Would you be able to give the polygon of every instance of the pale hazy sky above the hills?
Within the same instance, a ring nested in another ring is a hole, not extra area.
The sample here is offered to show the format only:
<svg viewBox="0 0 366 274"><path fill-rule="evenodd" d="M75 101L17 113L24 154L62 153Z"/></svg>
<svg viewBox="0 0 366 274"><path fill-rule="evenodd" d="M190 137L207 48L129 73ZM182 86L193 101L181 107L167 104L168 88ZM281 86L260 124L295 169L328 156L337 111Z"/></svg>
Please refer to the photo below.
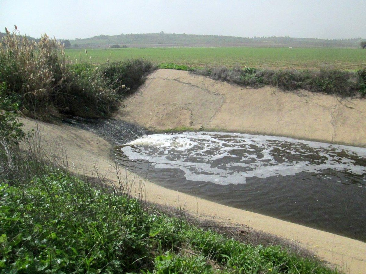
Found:
<svg viewBox="0 0 366 274"><path fill-rule="evenodd" d="M0 0L0 28L87 38L186 33L240 37L366 38L366 0Z"/></svg>

